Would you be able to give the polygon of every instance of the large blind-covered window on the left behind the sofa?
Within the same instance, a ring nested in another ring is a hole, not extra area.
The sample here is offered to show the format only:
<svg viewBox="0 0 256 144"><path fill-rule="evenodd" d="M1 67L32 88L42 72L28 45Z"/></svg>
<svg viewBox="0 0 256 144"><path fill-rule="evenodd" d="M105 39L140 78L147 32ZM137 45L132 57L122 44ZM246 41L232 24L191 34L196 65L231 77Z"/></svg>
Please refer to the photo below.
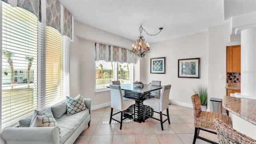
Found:
<svg viewBox="0 0 256 144"><path fill-rule="evenodd" d="M27 10L2 3L1 41L2 128L69 96L68 38Z"/></svg>

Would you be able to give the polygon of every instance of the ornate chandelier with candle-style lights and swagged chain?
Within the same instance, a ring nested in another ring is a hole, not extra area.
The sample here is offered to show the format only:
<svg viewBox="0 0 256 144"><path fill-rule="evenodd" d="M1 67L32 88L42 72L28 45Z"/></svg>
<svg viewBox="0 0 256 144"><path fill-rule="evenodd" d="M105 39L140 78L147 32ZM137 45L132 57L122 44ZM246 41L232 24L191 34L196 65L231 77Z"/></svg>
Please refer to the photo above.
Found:
<svg viewBox="0 0 256 144"><path fill-rule="evenodd" d="M159 34L162 29L163 28L159 28L160 31L157 34ZM142 26L140 25L140 27L139 27L140 36L138 37L139 39L136 40L137 46L134 46L134 44L132 44L132 52L134 52L136 57L138 56L139 58L143 58L144 56L147 57L146 53L150 53L149 44L148 43L146 44L145 39L141 35L142 30L144 30L144 28L142 28ZM146 32L146 30L144 30L144 32ZM157 34L149 34L148 32L146 32L146 34L149 36L157 35ZM145 44L146 44L146 46L145 46ZM143 49L143 51L142 51L142 49Z"/></svg>

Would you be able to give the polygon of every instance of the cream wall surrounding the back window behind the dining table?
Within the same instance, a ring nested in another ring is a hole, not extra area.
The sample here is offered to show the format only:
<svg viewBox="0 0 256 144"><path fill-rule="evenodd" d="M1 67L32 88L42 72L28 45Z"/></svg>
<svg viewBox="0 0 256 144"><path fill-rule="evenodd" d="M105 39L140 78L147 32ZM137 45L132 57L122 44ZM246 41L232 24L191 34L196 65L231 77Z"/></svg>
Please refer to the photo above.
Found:
<svg viewBox="0 0 256 144"><path fill-rule="evenodd" d="M131 48L133 41L79 22L74 24L74 35L70 43L70 97L82 93L84 98L92 98L92 109L109 106L110 92L95 92L95 42Z"/></svg>

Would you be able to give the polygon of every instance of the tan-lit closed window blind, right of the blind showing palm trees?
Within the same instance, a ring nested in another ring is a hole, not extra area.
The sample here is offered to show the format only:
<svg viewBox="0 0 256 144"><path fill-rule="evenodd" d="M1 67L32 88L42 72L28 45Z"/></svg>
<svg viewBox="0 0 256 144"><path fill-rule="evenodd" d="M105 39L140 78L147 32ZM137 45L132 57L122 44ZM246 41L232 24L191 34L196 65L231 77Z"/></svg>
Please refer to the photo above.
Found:
<svg viewBox="0 0 256 144"><path fill-rule="evenodd" d="M63 98L63 43L58 30L46 26L45 108Z"/></svg>

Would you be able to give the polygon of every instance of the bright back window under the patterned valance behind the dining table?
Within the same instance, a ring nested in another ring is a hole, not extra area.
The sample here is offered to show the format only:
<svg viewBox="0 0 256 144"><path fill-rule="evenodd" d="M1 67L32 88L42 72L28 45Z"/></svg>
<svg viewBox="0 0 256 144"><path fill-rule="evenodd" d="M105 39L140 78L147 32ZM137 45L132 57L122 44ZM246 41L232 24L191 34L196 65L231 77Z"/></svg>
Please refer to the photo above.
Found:
<svg viewBox="0 0 256 144"><path fill-rule="evenodd" d="M97 91L108 90L106 86L114 80L120 80L121 84L132 82L132 65L119 62L95 61L95 89Z"/></svg>

